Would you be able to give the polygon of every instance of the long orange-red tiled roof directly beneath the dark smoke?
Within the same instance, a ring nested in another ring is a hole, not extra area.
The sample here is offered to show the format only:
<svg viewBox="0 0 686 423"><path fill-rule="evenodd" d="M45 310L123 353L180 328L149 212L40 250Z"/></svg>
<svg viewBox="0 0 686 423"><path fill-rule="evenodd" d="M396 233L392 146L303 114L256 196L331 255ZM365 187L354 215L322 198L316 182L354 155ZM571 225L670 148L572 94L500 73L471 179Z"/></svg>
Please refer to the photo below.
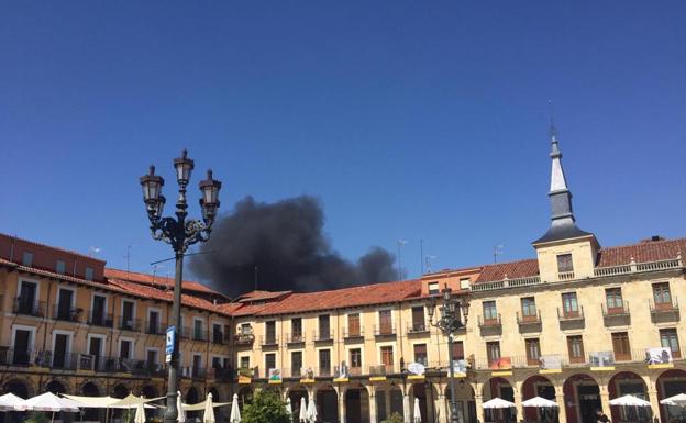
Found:
<svg viewBox="0 0 686 423"><path fill-rule="evenodd" d="M329 291L292 293L258 314L300 313L396 302L421 294L421 280L374 283Z"/></svg>

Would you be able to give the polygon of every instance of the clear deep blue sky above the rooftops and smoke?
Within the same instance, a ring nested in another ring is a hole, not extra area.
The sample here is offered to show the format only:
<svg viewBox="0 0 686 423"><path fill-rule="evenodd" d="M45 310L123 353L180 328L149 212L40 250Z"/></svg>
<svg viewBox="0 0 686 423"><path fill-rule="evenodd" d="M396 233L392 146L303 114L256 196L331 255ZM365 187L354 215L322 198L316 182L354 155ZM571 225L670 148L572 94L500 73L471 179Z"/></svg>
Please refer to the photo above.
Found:
<svg viewBox="0 0 686 423"><path fill-rule="evenodd" d="M170 197L188 147L224 211L318 196L350 258L530 257L552 99L579 226L685 236L684 22L684 1L3 2L0 231L150 271L170 249L137 178L155 163Z"/></svg>

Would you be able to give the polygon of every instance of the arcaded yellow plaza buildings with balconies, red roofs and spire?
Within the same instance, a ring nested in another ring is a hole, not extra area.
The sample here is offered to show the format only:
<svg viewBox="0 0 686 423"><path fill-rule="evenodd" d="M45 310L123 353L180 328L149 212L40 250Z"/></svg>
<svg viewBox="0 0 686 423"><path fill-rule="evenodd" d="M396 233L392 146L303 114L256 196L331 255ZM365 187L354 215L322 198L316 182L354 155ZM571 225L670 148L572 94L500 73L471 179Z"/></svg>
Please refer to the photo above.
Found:
<svg viewBox="0 0 686 423"><path fill-rule="evenodd" d="M534 258L233 300L184 282L185 400L211 391L219 401L237 393L243 404L274 390L296 414L307 397L322 422L342 423L394 412L409 422L417 401L422 422L446 422L453 366L462 422L595 423L597 409L612 421L648 418L609 405L627 393L650 401L663 422L681 420L660 400L686 392L686 238L601 247L577 226L555 136L551 146L551 223L532 243ZM172 280L2 235L0 282L3 391L164 396ZM444 287L469 303L450 350L430 322ZM558 412L522 405L536 396ZM496 397L516 407L485 411Z"/></svg>

